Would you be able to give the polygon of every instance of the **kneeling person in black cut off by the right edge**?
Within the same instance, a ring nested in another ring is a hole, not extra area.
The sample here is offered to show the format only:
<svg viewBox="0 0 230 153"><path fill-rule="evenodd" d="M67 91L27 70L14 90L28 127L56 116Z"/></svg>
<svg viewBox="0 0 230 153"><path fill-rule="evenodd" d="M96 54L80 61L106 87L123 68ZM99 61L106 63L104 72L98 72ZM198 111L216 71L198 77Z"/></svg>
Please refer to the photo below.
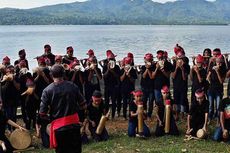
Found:
<svg viewBox="0 0 230 153"><path fill-rule="evenodd" d="M229 141L230 132L230 96L220 102L220 127L215 130L213 140Z"/></svg>

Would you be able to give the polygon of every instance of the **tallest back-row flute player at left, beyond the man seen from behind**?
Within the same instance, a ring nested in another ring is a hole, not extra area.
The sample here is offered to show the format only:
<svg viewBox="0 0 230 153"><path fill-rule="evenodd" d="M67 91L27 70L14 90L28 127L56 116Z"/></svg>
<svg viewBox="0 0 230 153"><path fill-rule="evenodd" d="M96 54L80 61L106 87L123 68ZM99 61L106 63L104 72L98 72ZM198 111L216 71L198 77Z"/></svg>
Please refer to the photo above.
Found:
<svg viewBox="0 0 230 153"><path fill-rule="evenodd" d="M40 57L43 57L45 59L48 66L52 66L55 64L55 55L51 52L51 46L49 44L46 44L44 46L44 54L42 54Z"/></svg>

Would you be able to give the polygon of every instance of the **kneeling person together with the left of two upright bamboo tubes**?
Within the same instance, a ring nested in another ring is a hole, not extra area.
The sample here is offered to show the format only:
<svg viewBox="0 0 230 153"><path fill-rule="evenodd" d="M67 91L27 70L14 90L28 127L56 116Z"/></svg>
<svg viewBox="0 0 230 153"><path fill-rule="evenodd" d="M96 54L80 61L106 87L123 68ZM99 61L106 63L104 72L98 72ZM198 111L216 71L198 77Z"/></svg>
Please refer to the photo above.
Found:
<svg viewBox="0 0 230 153"><path fill-rule="evenodd" d="M128 136L135 137L138 133L142 137L150 137L149 128L146 126L144 120L146 119L146 111L143 110L142 96L143 92L137 90L132 92L134 101L129 105L129 124Z"/></svg>

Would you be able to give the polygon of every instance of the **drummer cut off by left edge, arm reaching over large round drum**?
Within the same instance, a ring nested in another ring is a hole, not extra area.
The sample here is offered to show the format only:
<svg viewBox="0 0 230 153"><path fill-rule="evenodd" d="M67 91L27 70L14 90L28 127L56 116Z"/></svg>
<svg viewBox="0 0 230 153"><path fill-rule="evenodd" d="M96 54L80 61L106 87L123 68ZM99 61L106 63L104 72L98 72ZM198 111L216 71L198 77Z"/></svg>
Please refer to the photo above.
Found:
<svg viewBox="0 0 230 153"><path fill-rule="evenodd" d="M15 128L19 128L20 130L23 130L23 131L26 131L26 129L19 126L18 124L16 124L12 120L8 119L2 110L2 106L3 106L3 104L2 104L2 101L0 99L0 140L3 141L5 143L5 146L6 146L6 151L3 150L3 148L0 146L0 153L12 153L13 147L11 146L7 137L5 136L6 125L9 124Z"/></svg>

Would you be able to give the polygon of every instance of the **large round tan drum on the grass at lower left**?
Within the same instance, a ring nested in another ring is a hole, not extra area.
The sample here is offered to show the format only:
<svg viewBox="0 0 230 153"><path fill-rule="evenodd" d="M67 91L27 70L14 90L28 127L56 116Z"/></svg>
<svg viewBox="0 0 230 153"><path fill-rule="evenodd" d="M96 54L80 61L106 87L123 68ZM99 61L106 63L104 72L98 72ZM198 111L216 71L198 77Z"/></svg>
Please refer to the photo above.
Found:
<svg viewBox="0 0 230 153"><path fill-rule="evenodd" d="M20 129L14 130L11 133L9 140L11 145L17 150L26 149L32 143L29 132L21 131Z"/></svg>

